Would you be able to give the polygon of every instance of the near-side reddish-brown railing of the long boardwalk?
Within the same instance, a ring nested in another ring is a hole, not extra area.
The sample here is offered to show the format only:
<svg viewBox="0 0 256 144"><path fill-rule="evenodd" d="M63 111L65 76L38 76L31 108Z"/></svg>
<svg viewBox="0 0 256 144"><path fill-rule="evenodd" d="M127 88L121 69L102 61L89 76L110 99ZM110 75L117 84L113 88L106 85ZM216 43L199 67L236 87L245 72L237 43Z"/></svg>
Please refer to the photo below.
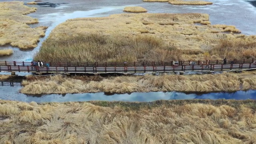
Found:
<svg viewBox="0 0 256 144"><path fill-rule="evenodd" d="M0 71L8 72L77 72L77 73L98 73L98 72L172 72L172 71L201 71L201 70L234 70L242 68L256 68L253 63L239 64L196 64L178 66L0 66Z"/></svg>

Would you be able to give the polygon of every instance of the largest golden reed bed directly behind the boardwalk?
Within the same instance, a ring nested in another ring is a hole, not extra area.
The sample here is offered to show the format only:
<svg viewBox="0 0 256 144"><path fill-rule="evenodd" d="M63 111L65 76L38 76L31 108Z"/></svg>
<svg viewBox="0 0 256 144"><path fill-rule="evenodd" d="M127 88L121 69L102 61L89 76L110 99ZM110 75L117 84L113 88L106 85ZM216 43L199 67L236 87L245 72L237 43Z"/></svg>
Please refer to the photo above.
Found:
<svg viewBox="0 0 256 144"><path fill-rule="evenodd" d="M34 59L52 62L198 60L204 59L205 52L215 60L246 58L240 53L228 57L222 52L213 52L225 41L244 44L239 47L242 52L248 48L256 51L251 45L256 41L255 36L233 32L240 31L234 26L211 25L208 14L197 13L76 18L58 25ZM249 55L250 58L255 56L254 53Z"/></svg>

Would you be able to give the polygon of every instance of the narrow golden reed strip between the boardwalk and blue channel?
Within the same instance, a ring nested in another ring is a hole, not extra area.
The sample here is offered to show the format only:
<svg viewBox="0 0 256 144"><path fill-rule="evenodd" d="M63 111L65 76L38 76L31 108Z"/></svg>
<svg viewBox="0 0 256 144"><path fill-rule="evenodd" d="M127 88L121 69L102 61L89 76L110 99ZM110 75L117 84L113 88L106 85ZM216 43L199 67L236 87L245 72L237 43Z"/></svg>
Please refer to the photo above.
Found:
<svg viewBox="0 0 256 144"><path fill-rule="evenodd" d="M223 73L203 75L118 76L88 81L62 75L23 80L23 94L65 94L87 92L216 92L256 89L256 76ZM32 76L33 77L33 76Z"/></svg>

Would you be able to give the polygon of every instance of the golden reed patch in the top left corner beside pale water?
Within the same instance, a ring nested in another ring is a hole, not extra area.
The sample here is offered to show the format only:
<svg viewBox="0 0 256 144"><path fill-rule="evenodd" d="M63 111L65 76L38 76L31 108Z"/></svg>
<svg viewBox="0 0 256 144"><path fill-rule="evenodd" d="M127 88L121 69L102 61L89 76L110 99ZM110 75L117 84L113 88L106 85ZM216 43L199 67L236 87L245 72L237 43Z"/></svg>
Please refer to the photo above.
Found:
<svg viewBox="0 0 256 144"><path fill-rule="evenodd" d="M0 46L10 44L21 49L35 48L47 27L30 28L28 24L38 19L25 16L36 8L24 6L23 2L0 2Z"/></svg>

